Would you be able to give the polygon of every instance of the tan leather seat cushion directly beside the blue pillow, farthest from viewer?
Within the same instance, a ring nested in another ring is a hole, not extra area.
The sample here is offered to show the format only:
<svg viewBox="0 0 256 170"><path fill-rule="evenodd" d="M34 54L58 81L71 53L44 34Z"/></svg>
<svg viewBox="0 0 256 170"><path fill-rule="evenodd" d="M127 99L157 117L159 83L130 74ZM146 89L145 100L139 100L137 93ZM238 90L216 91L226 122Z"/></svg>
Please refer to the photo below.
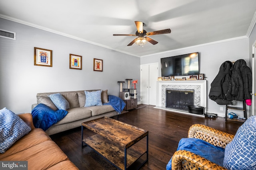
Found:
<svg viewBox="0 0 256 170"><path fill-rule="evenodd" d="M40 128L32 129L24 137L16 141L4 154L0 154L0 160L16 152L28 149L32 146L38 145L44 141L51 141L52 139Z"/></svg>

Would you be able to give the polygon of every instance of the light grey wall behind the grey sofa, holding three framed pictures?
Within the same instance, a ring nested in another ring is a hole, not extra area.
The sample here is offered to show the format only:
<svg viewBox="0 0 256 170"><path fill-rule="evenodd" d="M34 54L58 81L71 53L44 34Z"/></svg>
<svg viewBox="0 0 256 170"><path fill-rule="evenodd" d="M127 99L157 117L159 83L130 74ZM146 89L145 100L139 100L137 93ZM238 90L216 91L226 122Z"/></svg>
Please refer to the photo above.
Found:
<svg viewBox="0 0 256 170"><path fill-rule="evenodd" d="M39 92L108 89L118 96L117 81L140 82L138 57L2 18L0 23L16 32L16 41L0 38L0 109L30 113ZM34 47L52 50L52 67L34 66ZM82 70L69 68L69 54L82 56ZM94 58L103 60L103 72L93 71Z"/></svg>

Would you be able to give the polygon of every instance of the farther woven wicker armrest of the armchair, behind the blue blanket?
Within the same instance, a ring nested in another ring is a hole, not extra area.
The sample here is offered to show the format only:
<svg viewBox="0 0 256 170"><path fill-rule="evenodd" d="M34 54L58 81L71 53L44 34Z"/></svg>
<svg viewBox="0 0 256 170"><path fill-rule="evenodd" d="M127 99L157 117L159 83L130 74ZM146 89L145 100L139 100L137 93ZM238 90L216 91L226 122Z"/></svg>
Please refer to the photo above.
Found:
<svg viewBox="0 0 256 170"><path fill-rule="evenodd" d="M202 139L214 146L225 148L235 135L216 130L206 125L195 124L188 130L188 138Z"/></svg>

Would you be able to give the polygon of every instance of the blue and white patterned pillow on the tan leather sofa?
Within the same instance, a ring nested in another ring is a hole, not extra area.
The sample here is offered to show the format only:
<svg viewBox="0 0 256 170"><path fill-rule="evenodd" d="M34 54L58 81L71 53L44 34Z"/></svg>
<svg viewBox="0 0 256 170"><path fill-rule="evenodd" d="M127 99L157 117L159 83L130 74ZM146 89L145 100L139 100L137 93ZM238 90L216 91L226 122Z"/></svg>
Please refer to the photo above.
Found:
<svg viewBox="0 0 256 170"><path fill-rule="evenodd" d="M18 115L4 107L0 110L0 153L4 153L31 128Z"/></svg>

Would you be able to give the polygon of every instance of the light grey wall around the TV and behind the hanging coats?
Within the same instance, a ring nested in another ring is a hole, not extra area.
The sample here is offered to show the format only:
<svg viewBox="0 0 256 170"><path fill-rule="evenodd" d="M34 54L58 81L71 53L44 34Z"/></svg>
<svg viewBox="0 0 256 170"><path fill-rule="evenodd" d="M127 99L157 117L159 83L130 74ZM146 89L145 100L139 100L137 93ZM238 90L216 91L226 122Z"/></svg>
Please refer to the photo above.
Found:
<svg viewBox="0 0 256 170"><path fill-rule="evenodd" d="M249 38L236 39L234 41L226 41L222 43L211 43L208 45L201 45L187 49L170 51L168 53L142 57L140 59L140 64L158 62L159 68L161 68L161 58L194 52L199 52L200 55L200 74L204 74L207 80L207 96L210 92L210 84L218 74L220 65L224 61L244 59L249 66ZM159 69L158 75L159 77L161 76L161 69ZM242 102L238 103L238 106L242 107ZM220 107L223 107L223 111L220 111ZM220 113L221 115L225 113L225 106L216 104L216 102L210 100L209 97L207 98L206 109L207 112L210 113Z"/></svg>

